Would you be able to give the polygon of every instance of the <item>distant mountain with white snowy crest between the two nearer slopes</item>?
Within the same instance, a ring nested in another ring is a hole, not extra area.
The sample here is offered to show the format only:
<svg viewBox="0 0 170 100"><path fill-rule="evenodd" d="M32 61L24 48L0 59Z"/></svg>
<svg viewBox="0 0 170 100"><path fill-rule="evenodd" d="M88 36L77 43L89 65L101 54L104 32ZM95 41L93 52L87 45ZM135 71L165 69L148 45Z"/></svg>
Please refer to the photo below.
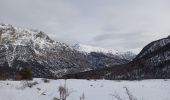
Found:
<svg viewBox="0 0 170 100"><path fill-rule="evenodd" d="M72 46L75 50L87 55L88 62L96 68L105 68L113 65L126 64L135 58L132 52L119 52L114 49L105 49L83 44Z"/></svg>

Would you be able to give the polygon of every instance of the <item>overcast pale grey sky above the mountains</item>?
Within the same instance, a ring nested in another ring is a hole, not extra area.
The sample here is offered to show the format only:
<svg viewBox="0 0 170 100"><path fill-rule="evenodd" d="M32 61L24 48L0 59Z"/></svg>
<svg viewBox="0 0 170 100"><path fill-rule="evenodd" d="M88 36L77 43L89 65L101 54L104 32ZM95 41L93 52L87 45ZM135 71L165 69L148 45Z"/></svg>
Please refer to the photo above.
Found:
<svg viewBox="0 0 170 100"><path fill-rule="evenodd" d="M170 34L170 0L0 0L0 23L70 45L139 53Z"/></svg>

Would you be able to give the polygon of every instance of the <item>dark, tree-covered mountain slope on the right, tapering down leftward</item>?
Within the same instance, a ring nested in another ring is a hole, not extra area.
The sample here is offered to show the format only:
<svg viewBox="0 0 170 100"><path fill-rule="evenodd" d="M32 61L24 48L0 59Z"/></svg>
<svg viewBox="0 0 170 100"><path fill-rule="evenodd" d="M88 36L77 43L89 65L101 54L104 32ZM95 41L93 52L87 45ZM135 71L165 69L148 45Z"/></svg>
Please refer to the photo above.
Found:
<svg viewBox="0 0 170 100"><path fill-rule="evenodd" d="M170 78L170 36L151 42L128 64L65 75L63 78L127 80Z"/></svg>

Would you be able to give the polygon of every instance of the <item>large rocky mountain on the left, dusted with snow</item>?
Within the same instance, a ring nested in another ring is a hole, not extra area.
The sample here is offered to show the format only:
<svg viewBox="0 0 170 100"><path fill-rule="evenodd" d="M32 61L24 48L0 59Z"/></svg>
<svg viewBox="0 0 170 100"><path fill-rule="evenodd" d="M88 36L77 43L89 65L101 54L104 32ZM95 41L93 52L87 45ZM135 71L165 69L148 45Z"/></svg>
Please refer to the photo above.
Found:
<svg viewBox="0 0 170 100"><path fill-rule="evenodd" d="M1 24L1 75L13 76L22 67L29 67L34 77L48 78L93 69L84 54L53 41L42 31Z"/></svg>

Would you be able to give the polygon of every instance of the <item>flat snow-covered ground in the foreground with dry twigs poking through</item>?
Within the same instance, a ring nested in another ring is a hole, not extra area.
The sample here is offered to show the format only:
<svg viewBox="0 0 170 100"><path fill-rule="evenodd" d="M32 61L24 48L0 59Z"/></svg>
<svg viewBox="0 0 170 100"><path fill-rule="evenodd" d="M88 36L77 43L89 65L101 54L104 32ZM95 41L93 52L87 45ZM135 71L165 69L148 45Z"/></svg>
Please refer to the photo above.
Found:
<svg viewBox="0 0 170 100"><path fill-rule="evenodd" d="M44 83L42 79L34 79L38 84L32 88L23 88L23 81L0 81L0 100L53 100L59 98L58 87L65 80L50 80ZM129 100L126 89L138 100L170 100L170 79L143 81L114 80L67 80L70 92L67 100L80 100L82 94L85 100L117 100L112 95L119 95Z"/></svg>

